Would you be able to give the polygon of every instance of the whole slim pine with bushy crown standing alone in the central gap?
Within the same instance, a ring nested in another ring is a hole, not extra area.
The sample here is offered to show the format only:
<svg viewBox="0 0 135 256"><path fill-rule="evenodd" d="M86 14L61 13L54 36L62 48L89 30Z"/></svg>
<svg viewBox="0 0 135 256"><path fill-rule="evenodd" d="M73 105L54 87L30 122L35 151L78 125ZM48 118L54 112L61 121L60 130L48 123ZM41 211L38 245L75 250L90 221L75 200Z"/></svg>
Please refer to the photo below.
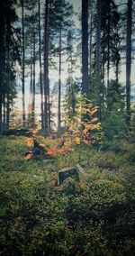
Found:
<svg viewBox="0 0 135 256"><path fill-rule="evenodd" d="M51 22L51 32L55 33L53 40L57 47L53 49L55 56L58 56L58 131L61 127L61 71L62 71L62 55L66 53L66 36L69 31L71 21L70 17L73 14L72 5L66 3L65 0L57 0L54 2ZM55 19L54 19L55 17Z"/></svg>

